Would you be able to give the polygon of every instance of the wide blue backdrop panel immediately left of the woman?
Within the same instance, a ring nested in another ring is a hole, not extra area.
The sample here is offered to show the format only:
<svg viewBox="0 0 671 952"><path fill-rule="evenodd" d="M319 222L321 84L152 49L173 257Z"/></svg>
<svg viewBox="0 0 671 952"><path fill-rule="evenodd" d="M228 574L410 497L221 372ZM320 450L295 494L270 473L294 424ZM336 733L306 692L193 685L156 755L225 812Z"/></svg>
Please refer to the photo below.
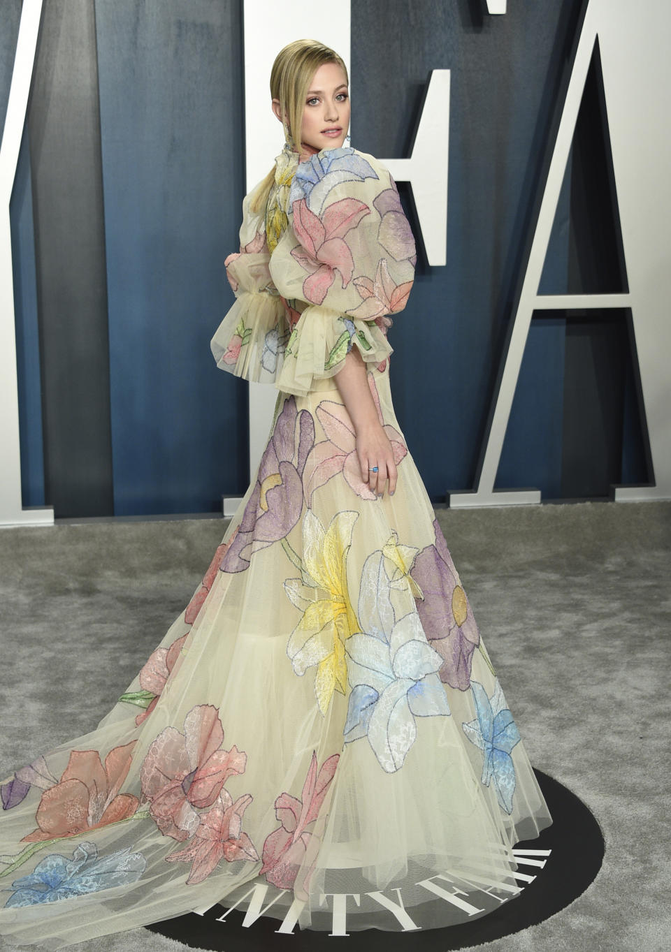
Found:
<svg viewBox="0 0 671 952"><path fill-rule="evenodd" d="M214 365L244 194L240 4L96 3L114 512L247 486L247 384Z"/></svg>

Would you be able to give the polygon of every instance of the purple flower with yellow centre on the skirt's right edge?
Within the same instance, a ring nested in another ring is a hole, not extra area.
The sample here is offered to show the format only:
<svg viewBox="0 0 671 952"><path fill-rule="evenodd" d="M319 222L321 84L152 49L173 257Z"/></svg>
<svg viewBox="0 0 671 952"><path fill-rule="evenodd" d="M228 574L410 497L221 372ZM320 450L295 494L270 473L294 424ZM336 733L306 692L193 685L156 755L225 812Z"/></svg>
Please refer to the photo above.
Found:
<svg viewBox="0 0 671 952"><path fill-rule="evenodd" d="M424 595L417 600L417 612L431 646L444 659L440 680L467 691L473 652L480 642L478 625L437 520L434 529L436 545L417 553L411 572Z"/></svg>

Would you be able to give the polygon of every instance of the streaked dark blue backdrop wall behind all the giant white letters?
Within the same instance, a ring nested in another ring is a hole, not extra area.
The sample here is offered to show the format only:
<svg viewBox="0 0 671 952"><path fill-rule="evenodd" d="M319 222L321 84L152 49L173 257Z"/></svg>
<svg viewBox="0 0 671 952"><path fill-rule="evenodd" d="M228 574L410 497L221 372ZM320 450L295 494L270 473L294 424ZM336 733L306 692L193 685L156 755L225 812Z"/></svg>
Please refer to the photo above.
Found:
<svg viewBox="0 0 671 952"><path fill-rule="evenodd" d="M519 0L503 17L466 0L352 7L356 148L409 154L429 71L452 71L447 266L420 251L390 335L398 417L434 500L474 482L583 5ZM19 14L19 0L0 0L0 121ZM245 191L242 70L240 0L47 4L11 204L24 505L215 511L246 488L247 385L209 348L233 302L223 261ZM541 293L626 287L600 82L595 55ZM419 237L411 189L399 190ZM613 238L599 254L595 226ZM585 375L592 402L577 415ZM555 499L602 489L620 467L623 482L644 479L634 380L620 325L579 333L575 315L538 312L496 486ZM576 451L600 415L601 470Z"/></svg>

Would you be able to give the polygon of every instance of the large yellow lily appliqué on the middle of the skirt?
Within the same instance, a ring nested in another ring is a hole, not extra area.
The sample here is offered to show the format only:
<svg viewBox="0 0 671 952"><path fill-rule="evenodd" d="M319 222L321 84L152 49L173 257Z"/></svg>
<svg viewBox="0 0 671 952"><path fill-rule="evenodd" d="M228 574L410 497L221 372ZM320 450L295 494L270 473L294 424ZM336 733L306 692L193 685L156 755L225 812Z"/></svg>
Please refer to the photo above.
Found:
<svg viewBox="0 0 671 952"><path fill-rule="evenodd" d="M354 511L338 512L324 529L308 509L303 521L302 579L284 583L289 599L303 612L287 654L296 674L316 665L315 695L322 714L334 691L347 691L345 641L359 630L347 592L347 554L357 518Z"/></svg>

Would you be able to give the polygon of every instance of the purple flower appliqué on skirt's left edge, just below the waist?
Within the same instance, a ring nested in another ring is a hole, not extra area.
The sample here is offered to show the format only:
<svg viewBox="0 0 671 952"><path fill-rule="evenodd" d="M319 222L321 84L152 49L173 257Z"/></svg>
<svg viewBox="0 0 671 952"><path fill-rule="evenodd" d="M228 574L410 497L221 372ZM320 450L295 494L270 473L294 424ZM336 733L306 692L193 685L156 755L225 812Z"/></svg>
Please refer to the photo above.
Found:
<svg viewBox="0 0 671 952"><path fill-rule="evenodd" d="M275 421L237 534L221 563L224 572L244 572L254 552L284 539L303 509L302 474L315 444L315 421L298 412L295 397L284 401Z"/></svg>

